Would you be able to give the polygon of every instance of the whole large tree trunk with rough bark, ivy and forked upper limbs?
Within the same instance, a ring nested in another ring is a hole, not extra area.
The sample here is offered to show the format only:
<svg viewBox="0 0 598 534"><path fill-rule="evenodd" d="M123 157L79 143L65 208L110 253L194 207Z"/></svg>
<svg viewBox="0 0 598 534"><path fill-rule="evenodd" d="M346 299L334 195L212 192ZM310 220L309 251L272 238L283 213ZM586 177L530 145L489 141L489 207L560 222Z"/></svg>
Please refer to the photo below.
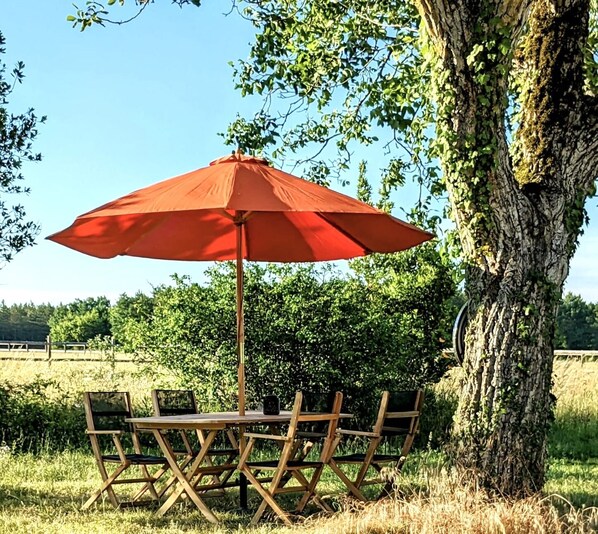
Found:
<svg viewBox="0 0 598 534"><path fill-rule="evenodd" d="M459 460L486 487L524 496L544 483L557 305L598 176L596 98L583 90L589 2L418 8L437 58L438 137L471 299Z"/></svg>

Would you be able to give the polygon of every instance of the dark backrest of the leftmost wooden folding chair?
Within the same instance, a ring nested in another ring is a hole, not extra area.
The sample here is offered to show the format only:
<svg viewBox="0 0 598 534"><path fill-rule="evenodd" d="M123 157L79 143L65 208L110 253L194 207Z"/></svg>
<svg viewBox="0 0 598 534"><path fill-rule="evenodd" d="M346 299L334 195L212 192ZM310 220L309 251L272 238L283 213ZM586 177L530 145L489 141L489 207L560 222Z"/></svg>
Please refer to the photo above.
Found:
<svg viewBox="0 0 598 534"><path fill-rule="evenodd" d="M126 430L131 425L131 398L124 391L87 391L83 394L88 430Z"/></svg>

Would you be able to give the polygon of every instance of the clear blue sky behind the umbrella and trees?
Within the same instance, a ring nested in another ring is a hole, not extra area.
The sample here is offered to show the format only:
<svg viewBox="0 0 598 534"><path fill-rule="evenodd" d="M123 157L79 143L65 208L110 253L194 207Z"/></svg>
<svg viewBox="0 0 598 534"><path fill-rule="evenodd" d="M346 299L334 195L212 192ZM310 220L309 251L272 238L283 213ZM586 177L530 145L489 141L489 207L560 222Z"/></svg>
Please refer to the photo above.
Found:
<svg viewBox="0 0 598 534"><path fill-rule="evenodd" d="M201 279L208 263L99 260L43 237L108 200L230 151L218 132L237 113L247 116L259 106L235 92L228 65L246 57L252 28L235 14L223 15L228 2L204 4L181 10L158 1L126 26L81 33L66 22L70 1L0 2L3 60L26 65L11 111L33 107L48 116L35 143L43 161L24 168L32 192L23 203L42 231L35 247L0 269L0 300L115 299L149 293L175 272ZM399 198L399 207L408 209L413 194ZM591 201L594 218L595 206ZM597 224L586 228L566 286L589 301L598 301Z"/></svg>

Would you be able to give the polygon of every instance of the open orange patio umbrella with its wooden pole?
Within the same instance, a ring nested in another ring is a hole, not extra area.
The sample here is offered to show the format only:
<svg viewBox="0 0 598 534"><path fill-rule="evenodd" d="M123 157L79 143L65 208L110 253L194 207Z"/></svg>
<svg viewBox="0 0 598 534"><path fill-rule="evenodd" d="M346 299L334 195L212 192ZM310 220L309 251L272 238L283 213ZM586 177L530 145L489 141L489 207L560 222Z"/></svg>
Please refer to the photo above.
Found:
<svg viewBox="0 0 598 534"><path fill-rule="evenodd" d="M48 239L98 258L236 260L239 413L245 413L243 260L396 252L433 236L372 206L235 153L80 215Z"/></svg>

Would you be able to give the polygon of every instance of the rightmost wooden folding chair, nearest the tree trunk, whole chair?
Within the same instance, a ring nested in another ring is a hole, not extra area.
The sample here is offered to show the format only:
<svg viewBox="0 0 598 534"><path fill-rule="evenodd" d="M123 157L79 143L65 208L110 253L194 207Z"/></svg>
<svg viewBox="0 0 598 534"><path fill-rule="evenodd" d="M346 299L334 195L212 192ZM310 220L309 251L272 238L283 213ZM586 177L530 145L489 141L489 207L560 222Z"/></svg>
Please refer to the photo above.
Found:
<svg viewBox="0 0 598 534"><path fill-rule="evenodd" d="M338 429L336 438L332 444L332 457L328 465L345 483L349 492L362 501L366 501L361 488L372 484L383 484L383 489L378 498L383 495L389 495L393 489L393 477L382 476L383 468L390 468L390 474L400 472L405 459L411 450L413 440L419 427L419 417L421 414L424 393L422 390L400 391L389 393L385 391L382 394L378 417L371 432L361 432L356 430ZM365 438L369 445L365 453L354 453L345 456L334 456L340 441L345 436L354 436ZM385 438L391 438L394 441L398 436L404 437L400 453L382 454L378 452L380 445ZM360 466L357 476L351 480L349 476L341 470L342 465ZM370 468L376 471L376 476L366 478Z"/></svg>

